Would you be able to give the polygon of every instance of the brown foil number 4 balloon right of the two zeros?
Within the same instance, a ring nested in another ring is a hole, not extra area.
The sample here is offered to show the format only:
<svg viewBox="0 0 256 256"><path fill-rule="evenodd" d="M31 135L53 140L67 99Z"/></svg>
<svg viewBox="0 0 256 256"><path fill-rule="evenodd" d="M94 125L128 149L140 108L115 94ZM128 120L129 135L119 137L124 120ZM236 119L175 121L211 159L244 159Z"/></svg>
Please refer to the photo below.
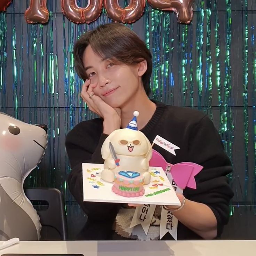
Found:
<svg viewBox="0 0 256 256"><path fill-rule="evenodd" d="M175 11L180 23L189 24L192 20L194 0L148 0L148 2L155 9Z"/></svg>

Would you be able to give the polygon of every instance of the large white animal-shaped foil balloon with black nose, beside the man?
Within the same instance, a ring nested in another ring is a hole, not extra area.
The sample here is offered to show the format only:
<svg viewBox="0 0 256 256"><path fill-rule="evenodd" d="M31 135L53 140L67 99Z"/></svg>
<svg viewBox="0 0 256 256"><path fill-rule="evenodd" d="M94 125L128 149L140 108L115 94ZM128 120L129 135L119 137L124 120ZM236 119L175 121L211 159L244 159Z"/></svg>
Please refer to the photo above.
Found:
<svg viewBox="0 0 256 256"><path fill-rule="evenodd" d="M0 241L40 239L39 216L23 184L46 145L45 125L30 125L0 112Z"/></svg>

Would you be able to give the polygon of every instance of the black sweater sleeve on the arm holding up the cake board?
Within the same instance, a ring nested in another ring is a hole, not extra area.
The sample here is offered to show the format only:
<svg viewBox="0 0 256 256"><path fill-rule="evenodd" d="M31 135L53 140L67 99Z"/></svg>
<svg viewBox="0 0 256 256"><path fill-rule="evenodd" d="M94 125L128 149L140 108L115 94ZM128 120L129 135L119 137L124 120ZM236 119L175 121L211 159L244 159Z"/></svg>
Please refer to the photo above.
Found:
<svg viewBox="0 0 256 256"><path fill-rule="evenodd" d="M191 133L189 159L202 165L203 169L195 176L197 189L186 189L184 196L210 207L217 219L219 237L229 221L233 192L227 175L232 172L232 164L218 131L207 116L201 119Z"/></svg>

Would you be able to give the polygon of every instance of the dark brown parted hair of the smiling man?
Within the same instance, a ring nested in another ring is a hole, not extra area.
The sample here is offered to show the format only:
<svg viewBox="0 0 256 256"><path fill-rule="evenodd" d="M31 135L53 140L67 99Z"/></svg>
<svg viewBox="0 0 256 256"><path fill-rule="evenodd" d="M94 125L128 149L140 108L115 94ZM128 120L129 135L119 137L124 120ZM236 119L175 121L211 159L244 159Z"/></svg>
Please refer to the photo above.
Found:
<svg viewBox="0 0 256 256"><path fill-rule="evenodd" d="M120 23L108 23L81 35L74 45L74 65L79 77L87 79L83 66L83 53L90 45L93 51L106 59L113 59L126 65L135 65L144 59L147 70L142 82L147 96L150 95L150 77L152 73L152 55L138 35Z"/></svg>

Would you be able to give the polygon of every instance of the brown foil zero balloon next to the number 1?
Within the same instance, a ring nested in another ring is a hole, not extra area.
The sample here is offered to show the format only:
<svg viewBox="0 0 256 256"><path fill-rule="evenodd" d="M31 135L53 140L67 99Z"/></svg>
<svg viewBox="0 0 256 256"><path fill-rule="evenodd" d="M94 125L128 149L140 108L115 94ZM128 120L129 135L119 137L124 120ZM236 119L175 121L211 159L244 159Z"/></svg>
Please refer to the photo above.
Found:
<svg viewBox="0 0 256 256"><path fill-rule="evenodd" d="M77 0L62 0L63 14L74 23L90 23L101 15L103 0L89 0L86 8L77 5Z"/></svg>

